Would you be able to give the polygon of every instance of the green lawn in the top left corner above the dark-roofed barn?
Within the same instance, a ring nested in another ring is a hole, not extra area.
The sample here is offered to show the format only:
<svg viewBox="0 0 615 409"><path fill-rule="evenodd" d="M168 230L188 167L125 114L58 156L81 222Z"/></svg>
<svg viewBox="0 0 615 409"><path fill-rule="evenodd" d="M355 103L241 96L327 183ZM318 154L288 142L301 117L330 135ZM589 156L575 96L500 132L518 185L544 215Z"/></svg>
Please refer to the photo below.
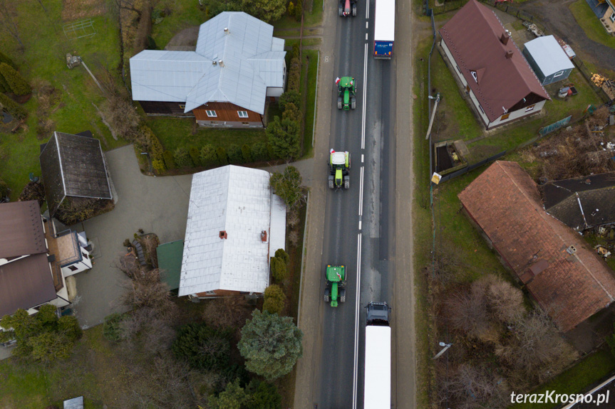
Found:
<svg viewBox="0 0 615 409"><path fill-rule="evenodd" d="M93 106L96 104L100 107L104 97L85 68L80 66L69 70L65 60L66 53L78 54L94 75L100 75L103 68L114 72L119 62L116 21L109 13L88 15L86 9L83 18L93 19L95 36L69 41L62 29L63 24L69 21L62 20L61 1L45 2L47 11L43 10L36 0L24 0L15 4L24 51L18 50L18 44L6 31L0 32L0 43L3 44L3 52L13 58L19 65L21 75L30 83L36 84L43 80L56 88L60 102L48 116L48 119L55 122L53 129L68 133L89 129L100 139L103 150L125 144L111 137ZM0 134L0 151L4 152L3 156L6 155L0 166L0 178L12 189L11 200L16 200L19 196L30 172L40 176L39 144L51 137L51 134L38 137L36 133L40 119L36 115L36 89L24 107L29 112L26 130L20 130L16 134Z"/></svg>

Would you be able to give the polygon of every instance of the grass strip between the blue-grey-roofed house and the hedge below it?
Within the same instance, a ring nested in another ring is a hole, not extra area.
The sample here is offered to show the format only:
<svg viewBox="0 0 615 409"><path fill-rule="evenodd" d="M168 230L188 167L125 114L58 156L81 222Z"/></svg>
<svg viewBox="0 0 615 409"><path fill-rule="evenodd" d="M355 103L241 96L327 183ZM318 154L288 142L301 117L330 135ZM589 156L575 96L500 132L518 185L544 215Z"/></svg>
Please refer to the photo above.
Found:
<svg viewBox="0 0 615 409"><path fill-rule="evenodd" d="M227 149L231 144L267 141L264 129L200 128L194 118L147 117L145 122L155 132L162 146L171 152L178 147L202 147L213 144Z"/></svg>

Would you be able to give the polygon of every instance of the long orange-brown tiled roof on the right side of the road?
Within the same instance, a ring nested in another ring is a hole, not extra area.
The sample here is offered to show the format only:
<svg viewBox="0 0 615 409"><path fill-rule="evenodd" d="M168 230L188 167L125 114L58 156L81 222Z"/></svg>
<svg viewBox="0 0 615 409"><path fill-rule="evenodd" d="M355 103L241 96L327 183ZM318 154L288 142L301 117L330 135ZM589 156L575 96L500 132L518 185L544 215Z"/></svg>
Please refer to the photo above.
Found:
<svg viewBox="0 0 615 409"><path fill-rule="evenodd" d="M496 161L459 198L562 331L614 301L613 272L577 233L544 211L537 185L515 162Z"/></svg>

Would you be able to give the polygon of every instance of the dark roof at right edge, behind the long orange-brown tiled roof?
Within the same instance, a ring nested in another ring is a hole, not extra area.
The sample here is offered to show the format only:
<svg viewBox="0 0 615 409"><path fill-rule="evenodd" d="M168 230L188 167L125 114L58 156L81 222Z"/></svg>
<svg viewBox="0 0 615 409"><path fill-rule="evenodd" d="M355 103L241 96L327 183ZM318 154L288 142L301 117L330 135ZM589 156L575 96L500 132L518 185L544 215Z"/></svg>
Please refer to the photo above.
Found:
<svg viewBox="0 0 615 409"><path fill-rule="evenodd" d="M553 181L542 191L547 213L574 230L615 223L615 173Z"/></svg>

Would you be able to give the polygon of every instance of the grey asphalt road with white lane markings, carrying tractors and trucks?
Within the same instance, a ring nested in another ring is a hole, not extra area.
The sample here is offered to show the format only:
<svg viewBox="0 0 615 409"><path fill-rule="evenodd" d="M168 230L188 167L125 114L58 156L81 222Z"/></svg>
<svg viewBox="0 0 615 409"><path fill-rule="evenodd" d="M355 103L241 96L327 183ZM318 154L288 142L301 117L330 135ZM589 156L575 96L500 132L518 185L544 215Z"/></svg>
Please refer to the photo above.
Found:
<svg viewBox="0 0 615 409"><path fill-rule="evenodd" d="M367 6L359 1L357 16L339 18L336 26L334 77L353 76L358 90L356 110L347 112L336 109L333 84L330 91L329 145L350 152L352 167L351 188L326 193L320 293L326 288L326 265L343 264L348 272L346 303L332 308L322 301L319 308L322 349L317 403L327 409L363 407L363 307L370 301L391 303L392 299L389 260L395 235L396 112L391 102L396 100L396 80L393 61L372 56L374 1L369 5L371 18L367 18ZM358 302L357 294L361 294Z"/></svg>

